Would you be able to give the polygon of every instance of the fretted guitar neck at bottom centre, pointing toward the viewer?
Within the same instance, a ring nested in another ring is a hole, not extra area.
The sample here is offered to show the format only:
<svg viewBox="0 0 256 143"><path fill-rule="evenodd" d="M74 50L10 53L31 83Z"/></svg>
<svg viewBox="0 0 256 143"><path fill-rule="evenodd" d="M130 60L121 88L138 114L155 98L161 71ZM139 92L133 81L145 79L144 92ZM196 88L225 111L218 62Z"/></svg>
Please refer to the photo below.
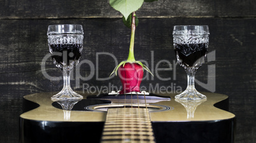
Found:
<svg viewBox="0 0 256 143"><path fill-rule="evenodd" d="M109 108L101 142L155 142L148 109Z"/></svg>

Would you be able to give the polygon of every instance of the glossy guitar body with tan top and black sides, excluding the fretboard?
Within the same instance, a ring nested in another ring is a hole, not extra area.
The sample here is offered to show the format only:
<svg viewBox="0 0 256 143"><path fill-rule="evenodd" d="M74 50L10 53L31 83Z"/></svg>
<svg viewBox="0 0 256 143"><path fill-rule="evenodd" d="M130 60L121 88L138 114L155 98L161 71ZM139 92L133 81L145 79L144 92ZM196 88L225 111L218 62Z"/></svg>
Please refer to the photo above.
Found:
<svg viewBox="0 0 256 143"><path fill-rule="evenodd" d="M68 111L51 101L53 94L24 96L20 142L100 142L107 115L104 108L118 99L94 98L80 93L84 99ZM146 102L148 108L155 108L150 111L155 142L234 142L236 118L228 112L228 96L203 94L207 100L202 103L175 101L175 94L160 95L169 100ZM98 111L97 107L102 105L102 111Z"/></svg>

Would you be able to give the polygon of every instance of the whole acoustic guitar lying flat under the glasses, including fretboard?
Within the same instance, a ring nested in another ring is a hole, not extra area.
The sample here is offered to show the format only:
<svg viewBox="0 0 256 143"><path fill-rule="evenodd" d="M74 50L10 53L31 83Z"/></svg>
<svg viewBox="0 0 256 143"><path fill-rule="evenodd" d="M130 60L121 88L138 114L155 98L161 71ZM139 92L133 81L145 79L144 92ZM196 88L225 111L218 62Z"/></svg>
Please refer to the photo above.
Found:
<svg viewBox="0 0 256 143"><path fill-rule="evenodd" d="M78 92L82 94L81 92ZM234 142L229 97L182 101L175 94L85 95L55 101L55 92L24 96L20 142Z"/></svg>

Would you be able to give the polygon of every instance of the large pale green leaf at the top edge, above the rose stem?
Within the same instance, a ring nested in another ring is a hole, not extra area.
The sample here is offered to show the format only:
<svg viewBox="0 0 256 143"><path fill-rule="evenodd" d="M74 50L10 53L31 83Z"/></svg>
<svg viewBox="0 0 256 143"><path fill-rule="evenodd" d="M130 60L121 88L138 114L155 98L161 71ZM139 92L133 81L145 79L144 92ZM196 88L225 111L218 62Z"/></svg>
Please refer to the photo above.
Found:
<svg viewBox="0 0 256 143"><path fill-rule="evenodd" d="M141 8L144 0L110 0L110 6L120 11L122 15L124 15L125 20L127 20L128 16L133 12L137 11Z"/></svg>

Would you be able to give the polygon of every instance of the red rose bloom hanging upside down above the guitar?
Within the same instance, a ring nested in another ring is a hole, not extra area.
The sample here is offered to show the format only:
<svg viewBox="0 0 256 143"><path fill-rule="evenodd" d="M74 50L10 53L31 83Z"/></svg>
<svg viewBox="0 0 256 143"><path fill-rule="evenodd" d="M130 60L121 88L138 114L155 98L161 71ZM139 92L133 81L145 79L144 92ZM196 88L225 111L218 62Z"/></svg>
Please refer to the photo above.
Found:
<svg viewBox="0 0 256 143"><path fill-rule="evenodd" d="M122 82L123 89L120 94L128 92L140 92L139 85L143 78L143 67L138 63L125 63L118 68L118 75Z"/></svg>

